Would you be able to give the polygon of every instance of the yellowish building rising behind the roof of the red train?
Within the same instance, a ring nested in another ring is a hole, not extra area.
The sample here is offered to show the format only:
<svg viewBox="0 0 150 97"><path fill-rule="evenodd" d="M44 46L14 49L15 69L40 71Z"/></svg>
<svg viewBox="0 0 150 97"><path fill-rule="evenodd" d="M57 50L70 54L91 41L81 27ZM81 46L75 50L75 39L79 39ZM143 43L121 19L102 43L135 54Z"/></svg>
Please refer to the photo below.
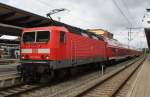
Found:
<svg viewBox="0 0 150 97"><path fill-rule="evenodd" d="M108 37L110 39L113 39L113 34L108 32L107 30L103 30L103 29L87 29L87 31L94 32L97 35L102 35L104 37Z"/></svg>

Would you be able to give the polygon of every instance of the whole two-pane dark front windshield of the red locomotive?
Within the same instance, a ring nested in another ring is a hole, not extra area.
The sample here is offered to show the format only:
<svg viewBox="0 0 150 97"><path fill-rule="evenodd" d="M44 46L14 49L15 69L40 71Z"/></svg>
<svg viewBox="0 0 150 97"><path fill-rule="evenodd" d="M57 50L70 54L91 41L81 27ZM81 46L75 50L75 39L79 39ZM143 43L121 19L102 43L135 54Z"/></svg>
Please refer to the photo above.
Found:
<svg viewBox="0 0 150 97"><path fill-rule="evenodd" d="M50 38L49 31L25 32L23 34L23 42L48 42Z"/></svg>

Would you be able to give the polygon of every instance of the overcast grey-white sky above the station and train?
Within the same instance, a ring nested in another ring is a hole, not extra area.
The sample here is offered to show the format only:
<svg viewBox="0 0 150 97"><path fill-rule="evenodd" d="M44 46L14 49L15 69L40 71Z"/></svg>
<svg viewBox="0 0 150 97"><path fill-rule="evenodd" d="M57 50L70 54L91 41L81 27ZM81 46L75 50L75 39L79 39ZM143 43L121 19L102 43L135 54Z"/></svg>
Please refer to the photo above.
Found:
<svg viewBox="0 0 150 97"><path fill-rule="evenodd" d="M146 8L149 0L0 0L0 2L46 16L55 8L66 8L53 15L61 22L83 29L102 28L112 32L116 39L127 44L127 27L147 27ZM116 3L116 5L115 5ZM149 6L150 8L150 6ZM120 11L121 10L121 11ZM144 22L142 18L146 14ZM129 23L130 22L130 23ZM132 30L130 45L147 47L143 29Z"/></svg>

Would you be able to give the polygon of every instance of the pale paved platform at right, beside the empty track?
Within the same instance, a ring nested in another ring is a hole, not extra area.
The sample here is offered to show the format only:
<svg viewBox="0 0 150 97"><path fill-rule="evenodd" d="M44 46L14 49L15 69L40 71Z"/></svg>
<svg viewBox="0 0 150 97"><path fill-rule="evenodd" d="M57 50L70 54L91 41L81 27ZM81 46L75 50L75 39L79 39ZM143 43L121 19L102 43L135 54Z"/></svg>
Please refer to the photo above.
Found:
<svg viewBox="0 0 150 97"><path fill-rule="evenodd" d="M144 61L126 97L150 97L150 55Z"/></svg>

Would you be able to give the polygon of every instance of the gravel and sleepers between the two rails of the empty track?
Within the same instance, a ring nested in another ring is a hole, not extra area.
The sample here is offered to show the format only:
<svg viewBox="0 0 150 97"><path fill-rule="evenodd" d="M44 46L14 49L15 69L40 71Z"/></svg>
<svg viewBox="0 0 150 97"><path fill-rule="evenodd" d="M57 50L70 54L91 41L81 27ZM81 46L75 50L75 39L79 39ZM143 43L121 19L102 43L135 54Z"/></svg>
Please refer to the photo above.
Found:
<svg viewBox="0 0 150 97"><path fill-rule="evenodd" d="M143 61L144 58L128 65L102 82L79 93L76 97L115 97L117 92L125 85Z"/></svg>

